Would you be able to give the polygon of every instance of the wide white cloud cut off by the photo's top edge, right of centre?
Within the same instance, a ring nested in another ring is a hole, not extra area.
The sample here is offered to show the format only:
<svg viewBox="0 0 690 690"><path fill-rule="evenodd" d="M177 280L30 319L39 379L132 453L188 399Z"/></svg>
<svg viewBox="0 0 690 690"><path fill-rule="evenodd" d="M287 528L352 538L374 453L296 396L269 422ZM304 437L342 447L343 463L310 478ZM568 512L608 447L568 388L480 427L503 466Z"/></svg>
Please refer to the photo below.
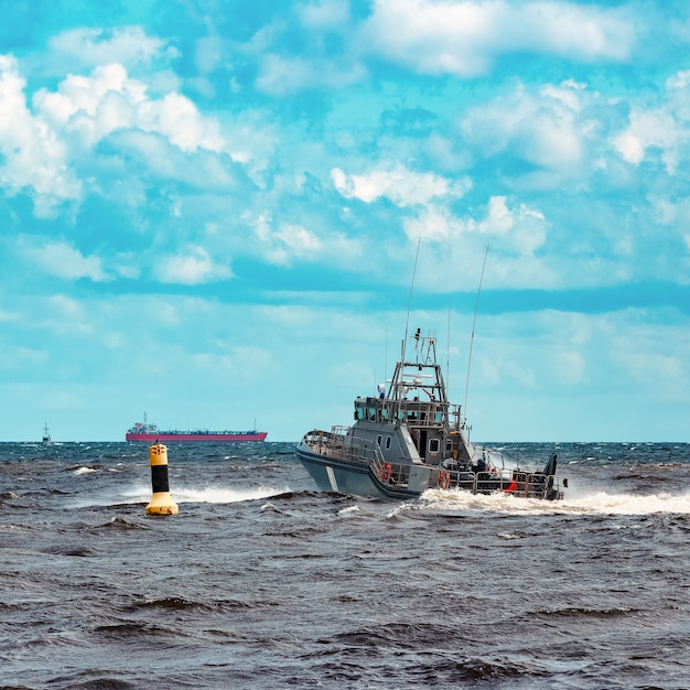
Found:
<svg viewBox="0 0 690 690"><path fill-rule="evenodd" d="M461 77L484 74L515 52L626 61L635 40L625 9L556 0L376 0L365 31L393 62Z"/></svg>

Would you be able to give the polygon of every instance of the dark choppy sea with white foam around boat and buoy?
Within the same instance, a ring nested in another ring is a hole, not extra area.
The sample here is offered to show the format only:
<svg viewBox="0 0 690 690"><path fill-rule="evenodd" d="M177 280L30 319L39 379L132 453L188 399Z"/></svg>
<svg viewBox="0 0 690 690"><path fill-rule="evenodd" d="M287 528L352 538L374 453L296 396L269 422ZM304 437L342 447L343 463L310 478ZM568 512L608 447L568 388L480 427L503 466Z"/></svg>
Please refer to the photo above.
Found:
<svg viewBox="0 0 690 690"><path fill-rule="evenodd" d="M690 688L690 445L502 443L561 502L315 488L294 443L0 443L0 689Z"/></svg>

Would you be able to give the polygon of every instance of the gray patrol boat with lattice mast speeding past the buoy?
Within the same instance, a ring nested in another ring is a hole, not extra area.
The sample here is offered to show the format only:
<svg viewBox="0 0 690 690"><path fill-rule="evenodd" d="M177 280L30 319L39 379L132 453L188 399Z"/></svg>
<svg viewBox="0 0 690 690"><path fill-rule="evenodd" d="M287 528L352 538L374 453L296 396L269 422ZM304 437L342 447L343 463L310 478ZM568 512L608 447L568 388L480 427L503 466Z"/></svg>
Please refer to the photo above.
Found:
<svg viewBox="0 0 690 690"><path fill-rule="evenodd" d="M553 454L541 471L506 466L500 453L470 441L460 406L449 402L436 339L412 336L414 358L400 362L388 389L355 400L352 427L314 429L297 454L321 490L376 498L413 498L430 488L563 497ZM568 486L563 479L562 486Z"/></svg>

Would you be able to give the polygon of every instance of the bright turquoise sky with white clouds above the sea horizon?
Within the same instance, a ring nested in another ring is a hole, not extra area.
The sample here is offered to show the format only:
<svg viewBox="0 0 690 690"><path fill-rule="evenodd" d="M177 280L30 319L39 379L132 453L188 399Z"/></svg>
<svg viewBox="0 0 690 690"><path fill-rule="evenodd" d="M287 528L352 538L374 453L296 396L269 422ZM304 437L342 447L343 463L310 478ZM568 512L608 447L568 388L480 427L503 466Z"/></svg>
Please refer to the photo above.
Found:
<svg viewBox="0 0 690 690"><path fill-rule="evenodd" d="M689 152L684 0L11 3L0 440L346 424L419 244L474 440L687 441Z"/></svg>

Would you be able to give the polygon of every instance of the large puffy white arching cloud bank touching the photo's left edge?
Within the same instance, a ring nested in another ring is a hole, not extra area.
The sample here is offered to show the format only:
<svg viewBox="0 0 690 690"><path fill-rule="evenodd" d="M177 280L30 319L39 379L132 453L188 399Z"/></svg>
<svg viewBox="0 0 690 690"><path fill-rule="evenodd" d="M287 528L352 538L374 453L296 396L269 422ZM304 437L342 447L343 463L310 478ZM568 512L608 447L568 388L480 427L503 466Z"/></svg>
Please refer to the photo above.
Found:
<svg viewBox="0 0 690 690"><path fill-rule="evenodd" d="M157 134L183 154L226 151L215 118L203 116L177 93L151 97L120 64L98 66L87 76L68 75L56 90L40 89L32 108L25 86L17 61L0 55L0 186L13 194L32 190L39 216L51 216L61 203L83 198L84 182L76 170L116 131ZM145 143L130 139L133 145L137 142ZM217 165L213 172L223 173Z"/></svg>

